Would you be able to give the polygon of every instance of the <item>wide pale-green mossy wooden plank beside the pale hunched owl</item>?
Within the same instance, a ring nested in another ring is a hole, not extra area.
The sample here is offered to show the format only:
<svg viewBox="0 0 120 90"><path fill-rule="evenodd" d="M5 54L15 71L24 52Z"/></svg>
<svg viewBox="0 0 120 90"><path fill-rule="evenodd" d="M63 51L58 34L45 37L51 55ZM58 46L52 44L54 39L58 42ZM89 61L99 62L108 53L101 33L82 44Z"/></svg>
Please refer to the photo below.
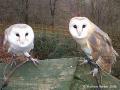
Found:
<svg viewBox="0 0 120 90"><path fill-rule="evenodd" d="M35 67L27 62L17 69L4 90L69 90L77 58L40 60ZM0 64L0 79L5 64Z"/></svg>

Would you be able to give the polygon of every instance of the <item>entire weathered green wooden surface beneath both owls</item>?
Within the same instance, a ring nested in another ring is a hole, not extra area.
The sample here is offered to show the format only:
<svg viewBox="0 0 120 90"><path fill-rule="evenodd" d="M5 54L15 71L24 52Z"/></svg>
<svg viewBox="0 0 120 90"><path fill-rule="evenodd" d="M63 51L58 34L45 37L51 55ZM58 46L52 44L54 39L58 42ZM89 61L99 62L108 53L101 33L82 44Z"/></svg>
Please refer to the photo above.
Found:
<svg viewBox="0 0 120 90"><path fill-rule="evenodd" d="M97 90L96 81L89 75L89 65L77 65L79 58L60 58L31 62L20 67L4 90ZM5 64L0 64L0 80ZM76 69L76 72L75 72ZM75 72L75 73L74 73ZM74 80L73 80L74 76ZM72 84L71 84L72 83ZM120 90L120 81L102 73L101 90Z"/></svg>

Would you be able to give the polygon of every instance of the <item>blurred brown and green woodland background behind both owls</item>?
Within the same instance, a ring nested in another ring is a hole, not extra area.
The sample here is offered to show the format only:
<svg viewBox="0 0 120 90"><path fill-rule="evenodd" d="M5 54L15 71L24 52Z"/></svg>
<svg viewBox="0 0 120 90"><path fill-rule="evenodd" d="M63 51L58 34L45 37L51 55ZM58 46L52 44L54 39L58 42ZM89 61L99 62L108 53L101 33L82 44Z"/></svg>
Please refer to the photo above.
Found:
<svg viewBox="0 0 120 90"><path fill-rule="evenodd" d="M39 59L83 56L68 31L73 16L88 17L107 32L120 55L120 0L0 0L1 33L14 23L32 26L32 54ZM120 78L119 57L112 71Z"/></svg>

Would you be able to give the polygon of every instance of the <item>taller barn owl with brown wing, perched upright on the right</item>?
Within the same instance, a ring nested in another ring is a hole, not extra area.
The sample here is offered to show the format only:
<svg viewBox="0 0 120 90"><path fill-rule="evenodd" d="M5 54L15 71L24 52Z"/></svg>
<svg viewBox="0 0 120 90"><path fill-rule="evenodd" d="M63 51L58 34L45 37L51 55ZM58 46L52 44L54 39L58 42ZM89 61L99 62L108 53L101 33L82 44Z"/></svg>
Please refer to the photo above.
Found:
<svg viewBox="0 0 120 90"><path fill-rule="evenodd" d="M94 64L95 67L91 71L93 76L97 75L99 67L110 73L118 53L113 49L108 34L86 17L73 17L69 22L69 31L90 59L84 60L84 63Z"/></svg>

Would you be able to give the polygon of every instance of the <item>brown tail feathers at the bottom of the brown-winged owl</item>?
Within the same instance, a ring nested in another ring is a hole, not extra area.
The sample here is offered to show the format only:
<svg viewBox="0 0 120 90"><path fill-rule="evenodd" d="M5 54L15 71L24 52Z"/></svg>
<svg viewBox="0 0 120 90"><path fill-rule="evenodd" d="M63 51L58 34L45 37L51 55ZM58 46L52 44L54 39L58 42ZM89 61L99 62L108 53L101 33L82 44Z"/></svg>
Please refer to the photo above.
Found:
<svg viewBox="0 0 120 90"><path fill-rule="evenodd" d="M96 63L103 71L106 71L107 73L111 73L112 60L107 59L107 57L106 58L99 57Z"/></svg>

